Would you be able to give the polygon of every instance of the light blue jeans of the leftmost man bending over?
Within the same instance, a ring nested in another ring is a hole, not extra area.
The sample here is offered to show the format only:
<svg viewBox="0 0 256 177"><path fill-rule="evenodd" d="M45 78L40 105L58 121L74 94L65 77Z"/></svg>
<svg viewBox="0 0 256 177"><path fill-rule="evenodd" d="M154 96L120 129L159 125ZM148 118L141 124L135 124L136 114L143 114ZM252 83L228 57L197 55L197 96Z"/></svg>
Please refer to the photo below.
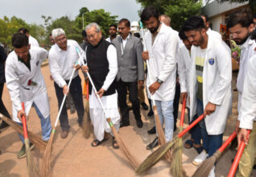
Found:
<svg viewBox="0 0 256 177"><path fill-rule="evenodd" d="M42 139L43 139L43 141L47 141L50 138L51 132L52 132L52 124L51 124L50 116L48 116L47 118L44 118L42 113L39 111L37 105L35 105L34 102L33 102L33 105L34 105L35 111L36 111L36 113L39 116L40 121L41 121ZM16 123L18 123L20 126L23 126L22 123L19 123L19 122L16 122ZM21 141L24 144L23 135L19 134L19 138L21 139Z"/></svg>

